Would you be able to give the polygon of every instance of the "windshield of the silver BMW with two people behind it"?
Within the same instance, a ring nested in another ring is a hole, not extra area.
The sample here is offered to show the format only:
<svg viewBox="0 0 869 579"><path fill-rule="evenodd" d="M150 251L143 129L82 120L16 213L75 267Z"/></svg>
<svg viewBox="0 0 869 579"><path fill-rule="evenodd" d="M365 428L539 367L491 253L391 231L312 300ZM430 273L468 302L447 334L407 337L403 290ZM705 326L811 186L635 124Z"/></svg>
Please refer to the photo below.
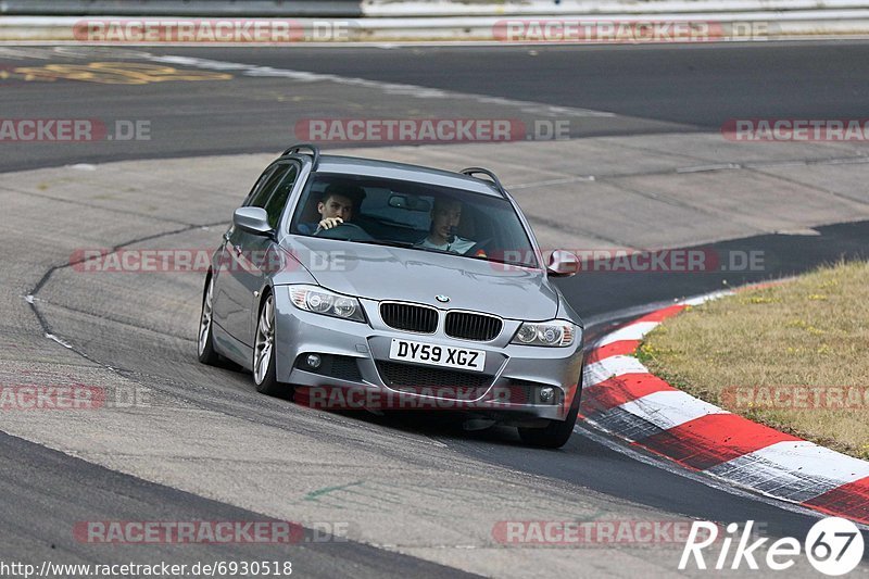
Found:
<svg viewBox="0 0 869 579"><path fill-rule="evenodd" d="M317 174L290 232L539 267L509 201L413 181Z"/></svg>

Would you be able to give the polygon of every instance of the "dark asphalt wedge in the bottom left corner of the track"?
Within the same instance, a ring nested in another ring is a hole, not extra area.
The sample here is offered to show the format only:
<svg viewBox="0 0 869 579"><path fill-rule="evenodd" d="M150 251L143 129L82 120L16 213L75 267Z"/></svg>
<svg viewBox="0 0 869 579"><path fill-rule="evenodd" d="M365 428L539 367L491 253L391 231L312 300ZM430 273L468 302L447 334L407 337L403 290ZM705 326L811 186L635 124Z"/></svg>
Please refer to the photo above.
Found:
<svg viewBox="0 0 869 579"><path fill-rule="evenodd" d="M118 544L88 542L87 521L272 521L217 501L122 475L0 432L0 561L40 566L214 565L217 562L291 562L295 575L355 577L475 577L414 557L345 540L327 541L311 529L285 544ZM39 492L34 492L38 489ZM290 521L292 523L292 521ZM298 540L298 542L297 542ZM202 576L204 574L199 574ZM51 577L85 574L56 572ZM101 577L108 577L100 575ZM197 575L189 571L185 576ZM4 576L8 577L8 576Z"/></svg>

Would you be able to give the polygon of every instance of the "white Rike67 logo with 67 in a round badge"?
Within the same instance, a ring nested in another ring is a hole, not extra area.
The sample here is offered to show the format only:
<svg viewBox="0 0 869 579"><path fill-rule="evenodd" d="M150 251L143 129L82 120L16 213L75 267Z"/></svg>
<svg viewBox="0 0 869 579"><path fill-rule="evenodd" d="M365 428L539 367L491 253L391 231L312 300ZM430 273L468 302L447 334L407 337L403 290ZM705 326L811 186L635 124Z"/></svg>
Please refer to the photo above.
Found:
<svg viewBox="0 0 869 579"><path fill-rule="evenodd" d="M828 576L845 575L854 570L862 559L864 539L857 526L844 518L828 517L816 523L806 534L804 544L793 537L783 537L766 547L766 557L760 557L759 551L769 541L765 537L754 539L752 529L754 521L748 520L740 532L740 526L731 523L726 527L726 534L719 541L718 525L706 520L695 520L679 559L679 570L684 570L693 565L697 569L740 569L742 565L752 570L759 569L758 559L766 564L766 568L774 571L790 569L796 564L796 558L805 551L808 562L816 570ZM731 546L735 546L731 550ZM704 553L711 545L720 544L720 551ZM711 555L707 567L705 555ZM714 562L714 563L713 563Z"/></svg>

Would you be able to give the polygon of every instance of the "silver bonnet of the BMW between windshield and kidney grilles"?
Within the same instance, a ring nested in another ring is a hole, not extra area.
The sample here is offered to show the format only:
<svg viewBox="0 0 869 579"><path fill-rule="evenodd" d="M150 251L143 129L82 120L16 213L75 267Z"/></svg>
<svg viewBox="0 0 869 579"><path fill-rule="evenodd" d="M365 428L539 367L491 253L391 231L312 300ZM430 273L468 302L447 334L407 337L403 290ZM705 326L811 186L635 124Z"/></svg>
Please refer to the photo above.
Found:
<svg viewBox="0 0 869 579"><path fill-rule="evenodd" d="M430 251L295 237L288 249L330 290L543 320L558 312L545 273ZM440 303L436 295L448 295Z"/></svg>

